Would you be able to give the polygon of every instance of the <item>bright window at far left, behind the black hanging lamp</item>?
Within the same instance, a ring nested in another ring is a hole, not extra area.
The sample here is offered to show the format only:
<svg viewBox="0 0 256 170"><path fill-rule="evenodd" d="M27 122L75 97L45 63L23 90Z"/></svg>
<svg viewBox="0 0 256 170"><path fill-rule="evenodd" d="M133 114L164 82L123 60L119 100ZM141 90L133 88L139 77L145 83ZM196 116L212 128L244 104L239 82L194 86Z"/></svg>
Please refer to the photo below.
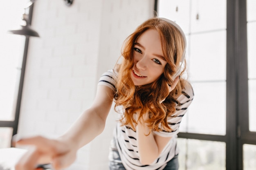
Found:
<svg viewBox="0 0 256 170"><path fill-rule="evenodd" d="M11 35L7 30L18 27L26 0L3 1L0 6L0 148L11 146L11 137L17 132L20 101L22 56L26 38ZM24 70L23 70L24 71Z"/></svg>

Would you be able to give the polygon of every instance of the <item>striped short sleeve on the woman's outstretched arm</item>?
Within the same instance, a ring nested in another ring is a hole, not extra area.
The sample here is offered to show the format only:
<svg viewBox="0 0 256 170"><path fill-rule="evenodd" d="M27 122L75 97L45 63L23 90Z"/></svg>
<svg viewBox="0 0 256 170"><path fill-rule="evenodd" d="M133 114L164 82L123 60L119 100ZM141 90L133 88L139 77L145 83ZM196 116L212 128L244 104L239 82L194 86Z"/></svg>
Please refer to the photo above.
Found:
<svg viewBox="0 0 256 170"><path fill-rule="evenodd" d="M114 72L114 70L109 70L101 75L99 78L98 86L104 85L108 86L112 89L112 91L116 92L115 87L115 79L117 77L117 74Z"/></svg>

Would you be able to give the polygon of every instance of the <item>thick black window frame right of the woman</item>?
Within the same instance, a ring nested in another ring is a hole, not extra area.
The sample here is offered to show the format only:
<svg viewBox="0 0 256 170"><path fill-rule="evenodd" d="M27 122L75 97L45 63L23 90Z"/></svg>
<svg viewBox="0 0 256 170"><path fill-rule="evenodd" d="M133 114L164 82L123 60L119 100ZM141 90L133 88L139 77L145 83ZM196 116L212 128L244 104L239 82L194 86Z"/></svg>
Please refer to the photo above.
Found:
<svg viewBox="0 0 256 170"><path fill-rule="evenodd" d="M249 131L246 0L227 0L226 135L180 132L178 137L226 143L226 169L243 170L243 144L256 145ZM155 0L155 12L158 0Z"/></svg>

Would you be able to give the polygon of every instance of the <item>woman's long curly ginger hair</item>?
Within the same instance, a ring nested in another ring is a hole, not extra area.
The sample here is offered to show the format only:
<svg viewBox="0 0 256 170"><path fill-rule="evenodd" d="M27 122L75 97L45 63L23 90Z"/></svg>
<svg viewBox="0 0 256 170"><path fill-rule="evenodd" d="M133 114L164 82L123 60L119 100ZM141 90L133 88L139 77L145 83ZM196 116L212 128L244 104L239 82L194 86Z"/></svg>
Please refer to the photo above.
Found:
<svg viewBox="0 0 256 170"><path fill-rule="evenodd" d="M148 29L156 30L160 35L162 51L167 64L164 73L153 83L143 86L135 86L131 79L131 71L134 65L133 53L134 44L137 38ZM182 88L186 83L185 79L180 78L174 90L169 93L168 84L173 84L175 72L180 66L180 61L184 53L184 40L180 31L171 23L160 18L151 18L140 26L126 38L122 49L123 61L117 65L117 93L115 96L115 109L117 106L123 106L125 113L121 118L124 126L130 126L136 131L137 120L134 114L140 111L139 120L146 113L149 113L148 119L144 120L148 127L154 131L159 131L159 125L166 131L171 131L168 126L168 116L175 113L176 99L182 93ZM184 68L186 68L184 61ZM181 73L181 75L182 75ZM164 100L165 99L165 100ZM164 102L160 103L160 101ZM138 116L138 115L137 115Z"/></svg>

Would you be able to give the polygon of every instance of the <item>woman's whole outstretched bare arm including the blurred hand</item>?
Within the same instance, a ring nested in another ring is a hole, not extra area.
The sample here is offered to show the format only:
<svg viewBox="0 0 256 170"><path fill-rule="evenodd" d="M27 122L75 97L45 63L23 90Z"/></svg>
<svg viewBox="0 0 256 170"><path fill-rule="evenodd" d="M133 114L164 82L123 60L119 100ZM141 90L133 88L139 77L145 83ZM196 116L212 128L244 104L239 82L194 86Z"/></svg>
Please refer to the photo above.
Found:
<svg viewBox="0 0 256 170"><path fill-rule="evenodd" d="M113 97L109 87L99 85L92 107L85 110L64 135L58 139L36 136L17 141L32 147L16 163L16 170L35 170L38 164L44 163L52 163L56 170L70 166L77 150L103 131Z"/></svg>

